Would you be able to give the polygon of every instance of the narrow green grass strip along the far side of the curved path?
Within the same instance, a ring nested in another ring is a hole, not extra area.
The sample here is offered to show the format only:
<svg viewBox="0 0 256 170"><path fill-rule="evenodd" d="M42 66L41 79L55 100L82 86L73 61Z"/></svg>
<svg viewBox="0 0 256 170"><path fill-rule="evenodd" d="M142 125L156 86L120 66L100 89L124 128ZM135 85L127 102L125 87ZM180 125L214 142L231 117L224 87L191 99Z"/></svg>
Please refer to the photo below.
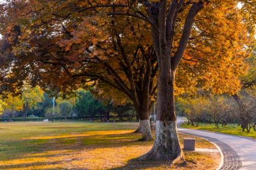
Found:
<svg viewBox="0 0 256 170"><path fill-rule="evenodd" d="M215 127L215 124L205 124L200 123L198 127L187 125L187 122L180 125L181 127L190 128L190 129L199 129L204 131L212 131L212 132L219 132L224 134L230 134L230 135L240 135L244 137L252 137L256 138L256 132L254 129L251 129L251 132L242 132L242 129L240 126L237 126L237 124L227 124L227 126L222 127L221 124L219 124L219 128Z"/></svg>

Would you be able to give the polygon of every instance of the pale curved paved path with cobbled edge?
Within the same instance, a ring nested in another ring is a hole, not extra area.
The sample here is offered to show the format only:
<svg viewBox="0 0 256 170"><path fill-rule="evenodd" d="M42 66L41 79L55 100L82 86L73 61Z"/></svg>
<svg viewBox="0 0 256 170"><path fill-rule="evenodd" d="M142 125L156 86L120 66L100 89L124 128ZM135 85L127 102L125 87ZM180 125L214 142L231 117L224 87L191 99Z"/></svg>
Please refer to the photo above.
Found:
<svg viewBox="0 0 256 170"><path fill-rule="evenodd" d="M177 124L183 120L177 118ZM217 144L224 155L221 169L256 169L256 140L214 132L178 128L179 132L207 138Z"/></svg>

